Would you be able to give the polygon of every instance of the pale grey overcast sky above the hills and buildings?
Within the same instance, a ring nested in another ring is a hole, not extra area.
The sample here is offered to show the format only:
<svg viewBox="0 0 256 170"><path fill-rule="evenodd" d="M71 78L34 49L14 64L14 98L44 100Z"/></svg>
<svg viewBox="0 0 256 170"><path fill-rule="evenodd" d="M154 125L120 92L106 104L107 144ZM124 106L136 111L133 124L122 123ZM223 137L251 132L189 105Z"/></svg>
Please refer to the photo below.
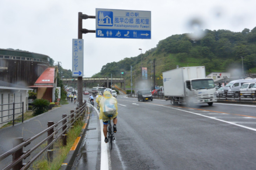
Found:
<svg viewBox="0 0 256 170"><path fill-rule="evenodd" d="M0 0L0 48L48 55L72 70L72 39L78 38L78 12L96 8L151 11L151 39L96 38L83 34L84 77L103 65L135 57L171 35L197 29L241 32L256 27L256 0ZM197 21L198 24L189 24ZM95 30L95 19L83 28Z"/></svg>

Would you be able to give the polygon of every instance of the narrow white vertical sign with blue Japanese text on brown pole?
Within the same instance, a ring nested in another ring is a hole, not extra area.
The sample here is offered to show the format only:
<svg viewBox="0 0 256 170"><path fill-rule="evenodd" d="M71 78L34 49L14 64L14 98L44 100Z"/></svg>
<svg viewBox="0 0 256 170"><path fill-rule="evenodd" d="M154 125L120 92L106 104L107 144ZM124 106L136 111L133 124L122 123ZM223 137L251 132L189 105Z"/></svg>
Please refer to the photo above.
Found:
<svg viewBox="0 0 256 170"><path fill-rule="evenodd" d="M72 39L72 76L83 76L83 39Z"/></svg>

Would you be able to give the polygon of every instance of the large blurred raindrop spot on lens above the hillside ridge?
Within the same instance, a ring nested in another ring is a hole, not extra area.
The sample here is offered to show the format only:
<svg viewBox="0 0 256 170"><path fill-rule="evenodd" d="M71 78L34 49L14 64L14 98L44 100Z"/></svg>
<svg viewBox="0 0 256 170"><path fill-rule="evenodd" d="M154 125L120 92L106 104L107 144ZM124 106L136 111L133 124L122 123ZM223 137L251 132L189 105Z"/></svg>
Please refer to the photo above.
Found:
<svg viewBox="0 0 256 170"><path fill-rule="evenodd" d="M187 34L189 38L194 40L200 40L204 37L204 31L203 31L203 21L200 18L193 18L188 21L187 27L188 30L192 33Z"/></svg>

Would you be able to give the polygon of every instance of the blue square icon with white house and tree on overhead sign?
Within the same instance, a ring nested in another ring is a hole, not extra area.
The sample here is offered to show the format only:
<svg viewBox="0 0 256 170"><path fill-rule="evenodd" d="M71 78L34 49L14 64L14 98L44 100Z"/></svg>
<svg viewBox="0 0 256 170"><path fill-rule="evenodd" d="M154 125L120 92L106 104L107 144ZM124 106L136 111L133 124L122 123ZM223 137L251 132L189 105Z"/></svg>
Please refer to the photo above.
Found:
<svg viewBox="0 0 256 170"><path fill-rule="evenodd" d="M113 12L112 11L98 11L98 25L99 26L113 26Z"/></svg>

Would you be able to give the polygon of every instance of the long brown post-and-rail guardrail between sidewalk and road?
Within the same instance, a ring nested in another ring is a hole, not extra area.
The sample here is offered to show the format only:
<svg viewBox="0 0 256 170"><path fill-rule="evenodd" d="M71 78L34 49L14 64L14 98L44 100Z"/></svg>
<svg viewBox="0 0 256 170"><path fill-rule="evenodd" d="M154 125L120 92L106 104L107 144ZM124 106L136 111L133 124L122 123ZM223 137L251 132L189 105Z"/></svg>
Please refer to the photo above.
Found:
<svg viewBox="0 0 256 170"><path fill-rule="evenodd" d="M75 111L70 111L70 114L67 116L66 114L62 114L62 119L58 121L57 123L54 123L53 121L48 121L48 128L43 130L42 132L34 135L30 139L23 140L23 137L16 138L14 142L14 146L11 150L7 151L6 153L0 155L0 161L7 158L9 155L13 155L13 162L8 164L7 167L5 167L2 170L25 170L28 169L29 166L38 158L44 151L47 150L47 160L49 162L52 162L53 160L53 144L56 142L60 137L62 137L62 145L67 145L67 130L69 128L72 128L74 123L78 121L79 119L82 120L86 113L86 101L80 108L76 108ZM57 127L62 123L62 126L60 126L58 129L54 130L54 127ZM62 129L62 132L56 136L56 134ZM31 149L23 152L23 147L28 146L31 144L32 141L34 141L39 136L44 135L47 133L47 137L43 140L41 140L40 143L33 146ZM47 146L45 146L43 149L41 149L38 153L33 153L36 149L39 147L43 147L43 143L47 141ZM33 158L29 160L27 163L22 164L22 161L25 160L29 155L33 153Z"/></svg>

